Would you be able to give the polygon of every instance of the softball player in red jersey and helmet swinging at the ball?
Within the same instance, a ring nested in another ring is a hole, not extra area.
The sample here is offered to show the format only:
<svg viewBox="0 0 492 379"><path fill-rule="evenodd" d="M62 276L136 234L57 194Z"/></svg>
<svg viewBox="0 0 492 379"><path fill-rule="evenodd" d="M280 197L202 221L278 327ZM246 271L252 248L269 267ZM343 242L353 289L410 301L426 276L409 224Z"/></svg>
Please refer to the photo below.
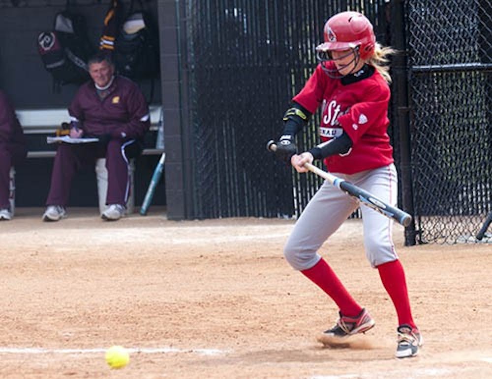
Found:
<svg viewBox="0 0 492 379"><path fill-rule="evenodd" d="M393 50L376 42L370 21L358 12L341 12L324 27L324 43L316 47L320 63L284 115L284 130L277 141L277 157L298 172L304 163L323 159L328 170L373 193L388 204L397 202L397 173L387 134L391 81L385 56ZM294 136L321 107L321 143L297 154ZM330 296L339 319L322 333L325 344L346 342L348 336L374 326L369 312L351 297L335 272L317 253L352 212L353 197L325 182L307 204L284 247L290 265ZM405 273L392 241L392 220L361 208L366 256L377 268L391 297L399 326L396 356L414 356L422 336L412 317Z"/></svg>

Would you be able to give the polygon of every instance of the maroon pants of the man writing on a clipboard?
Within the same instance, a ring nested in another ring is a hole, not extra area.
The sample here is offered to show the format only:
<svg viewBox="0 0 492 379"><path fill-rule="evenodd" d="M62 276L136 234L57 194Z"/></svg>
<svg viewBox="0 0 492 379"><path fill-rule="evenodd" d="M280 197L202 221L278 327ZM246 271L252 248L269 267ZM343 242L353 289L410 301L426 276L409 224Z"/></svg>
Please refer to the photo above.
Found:
<svg viewBox="0 0 492 379"><path fill-rule="evenodd" d="M106 146L99 143L61 143L58 147L51 174L51 187L46 205L66 206L70 185L75 173L84 167L94 169L98 158L106 158L108 170L108 193L106 204L125 205L130 194L128 158L125 148L134 140L113 139Z"/></svg>

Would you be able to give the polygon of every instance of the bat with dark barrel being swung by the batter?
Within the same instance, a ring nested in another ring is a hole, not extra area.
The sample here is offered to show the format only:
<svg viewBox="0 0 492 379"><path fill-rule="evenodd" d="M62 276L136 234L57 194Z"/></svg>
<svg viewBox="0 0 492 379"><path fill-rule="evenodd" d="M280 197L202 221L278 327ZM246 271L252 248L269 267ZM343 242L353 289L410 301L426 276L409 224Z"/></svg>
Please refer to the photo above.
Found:
<svg viewBox="0 0 492 379"><path fill-rule="evenodd" d="M270 140L267 144L267 149L270 151L275 151L277 150L277 145L273 140ZM368 191L357 187L356 185L347 182L344 179L340 179L336 177L333 174L330 174L329 172L326 172L322 170L321 168L311 164L311 163L305 163L304 166L311 172L315 173L316 175L320 176L321 178L327 180L330 182L332 185L337 187L338 189L344 191L350 196L353 196L357 198L362 204L368 206L369 208L372 208L373 210L381 213L382 215L386 217L390 217L398 221L401 225L403 226L408 226L410 225L410 222L412 221L412 217L402 211L399 208L393 207L389 204L386 204L385 202L379 200L375 196L373 196L371 193Z"/></svg>

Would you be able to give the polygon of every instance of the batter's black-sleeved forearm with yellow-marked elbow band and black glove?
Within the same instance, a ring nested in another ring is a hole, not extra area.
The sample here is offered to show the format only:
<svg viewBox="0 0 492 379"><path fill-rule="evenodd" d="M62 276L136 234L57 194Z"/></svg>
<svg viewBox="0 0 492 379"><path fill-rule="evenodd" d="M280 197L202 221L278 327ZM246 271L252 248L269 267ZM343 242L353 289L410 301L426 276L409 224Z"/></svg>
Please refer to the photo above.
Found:
<svg viewBox="0 0 492 379"><path fill-rule="evenodd" d="M284 127L282 135L277 141L276 156L284 161L290 162L290 158L297 154L297 146L294 137L299 133L309 121L311 113L300 104L293 103L292 107L285 111L283 115Z"/></svg>

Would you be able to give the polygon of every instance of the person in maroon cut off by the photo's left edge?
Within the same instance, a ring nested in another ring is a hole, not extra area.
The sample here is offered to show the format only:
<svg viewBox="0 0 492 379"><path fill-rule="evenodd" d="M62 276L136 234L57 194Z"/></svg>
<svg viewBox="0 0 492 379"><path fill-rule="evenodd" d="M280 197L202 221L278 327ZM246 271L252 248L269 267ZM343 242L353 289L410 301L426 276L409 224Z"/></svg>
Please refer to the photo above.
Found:
<svg viewBox="0 0 492 379"><path fill-rule="evenodd" d="M0 220L10 220L10 167L27 155L26 139L14 108L0 91Z"/></svg>

